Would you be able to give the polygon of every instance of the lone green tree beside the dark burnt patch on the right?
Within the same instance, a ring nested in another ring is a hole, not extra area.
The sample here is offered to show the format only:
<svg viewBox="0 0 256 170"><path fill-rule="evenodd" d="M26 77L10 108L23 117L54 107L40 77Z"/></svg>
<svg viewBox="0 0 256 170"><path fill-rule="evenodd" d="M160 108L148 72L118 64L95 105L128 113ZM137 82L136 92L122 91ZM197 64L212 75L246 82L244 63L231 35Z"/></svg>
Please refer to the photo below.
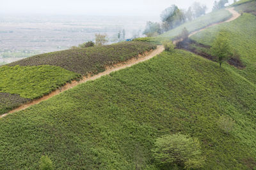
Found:
<svg viewBox="0 0 256 170"><path fill-rule="evenodd" d="M222 34L225 34L225 32L220 32L211 47L212 55L217 58L220 67L221 64L230 56L230 46L228 45L227 39L225 36L222 36Z"/></svg>

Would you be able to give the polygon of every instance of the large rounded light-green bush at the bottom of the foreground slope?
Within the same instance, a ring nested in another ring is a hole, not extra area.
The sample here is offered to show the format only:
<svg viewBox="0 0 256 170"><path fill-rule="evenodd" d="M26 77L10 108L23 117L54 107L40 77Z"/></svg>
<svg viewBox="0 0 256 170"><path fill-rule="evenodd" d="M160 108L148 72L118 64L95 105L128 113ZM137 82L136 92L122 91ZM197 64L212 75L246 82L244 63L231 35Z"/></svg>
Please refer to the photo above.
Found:
<svg viewBox="0 0 256 170"><path fill-rule="evenodd" d="M161 167L180 166L197 169L204 166L204 157L198 139L183 134L161 136L152 149L154 159Z"/></svg>

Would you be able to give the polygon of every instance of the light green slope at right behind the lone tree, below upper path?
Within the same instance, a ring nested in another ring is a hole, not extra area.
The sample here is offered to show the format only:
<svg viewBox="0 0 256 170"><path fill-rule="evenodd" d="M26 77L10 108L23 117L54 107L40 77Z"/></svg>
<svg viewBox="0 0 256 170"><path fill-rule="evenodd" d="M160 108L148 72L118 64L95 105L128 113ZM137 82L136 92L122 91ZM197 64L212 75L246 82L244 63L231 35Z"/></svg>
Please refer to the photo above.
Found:
<svg viewBox="0 0 256 170"><path fill-rule="evenodd" d="M237 20L216 25L199 32L191 38L199 43L211 45L220 30L227 31L225 36L229 39L232 48L235 48L239 52L241 60L246 66L244 69L236 69L235 67L229 66L230 69L236 71L236 73L239 73L256 85L256 17L244 13Z"/></svg>

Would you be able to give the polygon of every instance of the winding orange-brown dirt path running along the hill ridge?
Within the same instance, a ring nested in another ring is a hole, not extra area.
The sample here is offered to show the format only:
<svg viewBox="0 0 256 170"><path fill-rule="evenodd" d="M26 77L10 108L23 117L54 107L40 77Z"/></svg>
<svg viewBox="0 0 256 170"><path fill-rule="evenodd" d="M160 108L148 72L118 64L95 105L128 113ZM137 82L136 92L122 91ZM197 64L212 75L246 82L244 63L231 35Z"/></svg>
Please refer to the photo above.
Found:
<svg viewBox="0 0 256 170"><path fill-rule="evenodd" d="M235 11L234 8L227 8L226 10L228 10L228 11L230 11L230 13L232 13L232 17L229 18L228 20L224 21L224 22L230 22L232 20L236 20L236 18L240 17L240 15L241 15L240 13ZM205 29L207 29L209 27L212 27L214 25L218 25L218 24L221 24L221 23L224 23L224 22L219 22L219 23L216 23L216 24L211 24L211 25L209 25L207 27L204 27L203 29L191 32L191 34L189 34L189 37L193 36L197 32L204 31ZM177 41L173 41L173 43L177 43ZM102 73L99 73L99 74L96 74L94 76L89 76L89 77L84 76L80 81L75 81L74 80L71 83L67 83L66 85L61 87L61 90L60 89L54 90L53 92L51 92L47 96L41 97L40 99L35 99L35 100L31 101L31 103L28 103L28 104L22 104L18 108L15 108L14 110L9 111L8 113L5 113L4 115L0 115L0 118L6 117L7 115L10 115L11 113L14 113L16 111L25 110L29 106L33 106L35 104L41 103L42 101L45 101L45 100L47 100L47 99L49 99L49 98L51 98L53 96L56 96L56 95L60 94L61 92L65 92L68 89L72 89L73 87L76 87L77 85L79 85L81 83L84 83L86 81L95 80L97 78L100 78L101 76L108 75L109 73L111 73L113 71L118 71L118 70L124 69L126 67L131 67L134 64L138 64L139 62L143 62L145 60L151 59L152 57L158 55L159 53L161 53L163 51L164 51L164 46L157 46L156 50L147 52L144 55L140 55L138 57L138 59L130 59L130 60L127 60L126 62L122 62L120 64L116 64L115 66L107 67L106 71L104 71Z"/></svg>

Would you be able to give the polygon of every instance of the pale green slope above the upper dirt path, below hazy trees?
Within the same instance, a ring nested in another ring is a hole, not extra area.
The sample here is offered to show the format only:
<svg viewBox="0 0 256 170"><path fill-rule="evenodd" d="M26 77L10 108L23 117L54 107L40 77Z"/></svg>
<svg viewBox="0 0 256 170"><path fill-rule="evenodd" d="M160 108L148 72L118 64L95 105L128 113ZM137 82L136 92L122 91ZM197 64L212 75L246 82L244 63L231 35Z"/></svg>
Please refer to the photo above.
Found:
<svg viewBox="0 0 256 170"><path fill-rule="evenodd" d="M171 31L165 32L160 36L150 37L150 38L138 38L136 39L136 41L144 41L148 43L161 44L161 41L163 40L166 40L166 39L170 40L175 38L175 36L178 36L180 32L182 32L182 29L184 29L184 27L186 27L186 29L188 29L189 32L193 32L193 31L200 30L204 27L207 27L208 25L225 21L230 17L232 17L232 14L225 9L213 11L212 13L208 13L207 15L196 18L191 22L186 22L185 24L182 24L179 27L172 29Z"/></svg>

